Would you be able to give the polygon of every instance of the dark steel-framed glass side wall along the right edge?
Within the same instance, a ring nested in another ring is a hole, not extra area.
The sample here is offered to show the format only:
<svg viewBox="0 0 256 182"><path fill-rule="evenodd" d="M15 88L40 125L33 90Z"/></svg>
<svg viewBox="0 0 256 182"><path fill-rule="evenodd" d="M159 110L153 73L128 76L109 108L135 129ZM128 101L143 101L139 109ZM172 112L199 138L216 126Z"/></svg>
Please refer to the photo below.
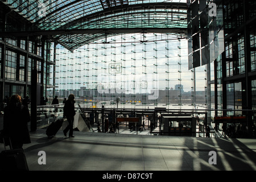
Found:
<svg viewBox="0 0 256 182"><path fill-rule="evenodd" d="M246 115L247 120L241 124L251 131L255 119L255 27L251 23L255 2L237 0L222 4L225 51L216 60L215 93L216 105L224 111L218 115Z"/></svg>

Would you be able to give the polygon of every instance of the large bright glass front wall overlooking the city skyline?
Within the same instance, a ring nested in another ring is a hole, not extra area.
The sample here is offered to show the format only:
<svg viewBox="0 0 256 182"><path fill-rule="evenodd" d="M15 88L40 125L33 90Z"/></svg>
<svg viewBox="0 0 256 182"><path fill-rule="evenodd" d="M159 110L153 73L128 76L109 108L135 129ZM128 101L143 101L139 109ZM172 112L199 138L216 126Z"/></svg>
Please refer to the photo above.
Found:
<svg viewBox="0 0 256 182"><path fill-rule="evenodd" d="M51 67L56 77L49 80L56 86L55 95L62 99L76 93L81 103L97 107L116 107L118 97L119 107L194 109L206 104L205 67L187 69L186 40L171 34L127 34L108 40L74 52L56 47L56 65ZM49 97L52 93L48 89Z"/></svg>

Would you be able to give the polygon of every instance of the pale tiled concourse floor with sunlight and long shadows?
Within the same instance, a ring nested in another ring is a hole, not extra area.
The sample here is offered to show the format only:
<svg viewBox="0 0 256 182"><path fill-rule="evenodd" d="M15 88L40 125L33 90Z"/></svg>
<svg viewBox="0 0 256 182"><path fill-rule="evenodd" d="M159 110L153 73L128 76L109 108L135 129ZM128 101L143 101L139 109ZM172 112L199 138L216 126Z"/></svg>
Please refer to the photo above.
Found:
<svg viewBox="0 0 256 182"><path fill-rule="evenodd" d="M46 129L24 144L30 171L233 171L256 169L255 139L174 137L63 131L49 139ZM0 151L4 150L3 144ZM39 164L39 151L46 164ZM211 158L210 151L216 152ZM211 158L211 159L210 159ZM209 159L216 164L210 164ZM214 160L213 160L214 159Z"/></svg>

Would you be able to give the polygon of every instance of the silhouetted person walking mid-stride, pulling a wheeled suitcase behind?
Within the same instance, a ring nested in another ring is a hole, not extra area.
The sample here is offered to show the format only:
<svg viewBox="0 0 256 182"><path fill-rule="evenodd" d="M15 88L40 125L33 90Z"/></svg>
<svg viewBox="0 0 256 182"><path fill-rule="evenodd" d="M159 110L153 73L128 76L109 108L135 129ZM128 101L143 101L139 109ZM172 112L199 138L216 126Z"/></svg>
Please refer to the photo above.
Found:
<svg viewBox="0 0 256 182"><path fill-rule="evenodd" d="M74 116L76 114L75 111L75 96L74 94L69 94L68 100L65 102L64 109L63 109L63 117L68 119L68 126L63 130L65 137L67 137L67 133L69 131L69 137L73 136L73 122Z"/></svg>

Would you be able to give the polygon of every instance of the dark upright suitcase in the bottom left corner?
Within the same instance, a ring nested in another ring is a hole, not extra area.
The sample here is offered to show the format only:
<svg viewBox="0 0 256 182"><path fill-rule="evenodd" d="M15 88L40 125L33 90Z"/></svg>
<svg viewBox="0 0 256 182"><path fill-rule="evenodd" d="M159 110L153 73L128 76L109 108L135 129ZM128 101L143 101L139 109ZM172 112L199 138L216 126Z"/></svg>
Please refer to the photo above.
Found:
<svg viewBox="0 0 256 182"><path fill-rule="evenodd" d="M3 139L5 150L0 153L0 171L29 171L23 148L13 149L10 138L9 141L10 150L6 150L7 142Z"/></svg>

